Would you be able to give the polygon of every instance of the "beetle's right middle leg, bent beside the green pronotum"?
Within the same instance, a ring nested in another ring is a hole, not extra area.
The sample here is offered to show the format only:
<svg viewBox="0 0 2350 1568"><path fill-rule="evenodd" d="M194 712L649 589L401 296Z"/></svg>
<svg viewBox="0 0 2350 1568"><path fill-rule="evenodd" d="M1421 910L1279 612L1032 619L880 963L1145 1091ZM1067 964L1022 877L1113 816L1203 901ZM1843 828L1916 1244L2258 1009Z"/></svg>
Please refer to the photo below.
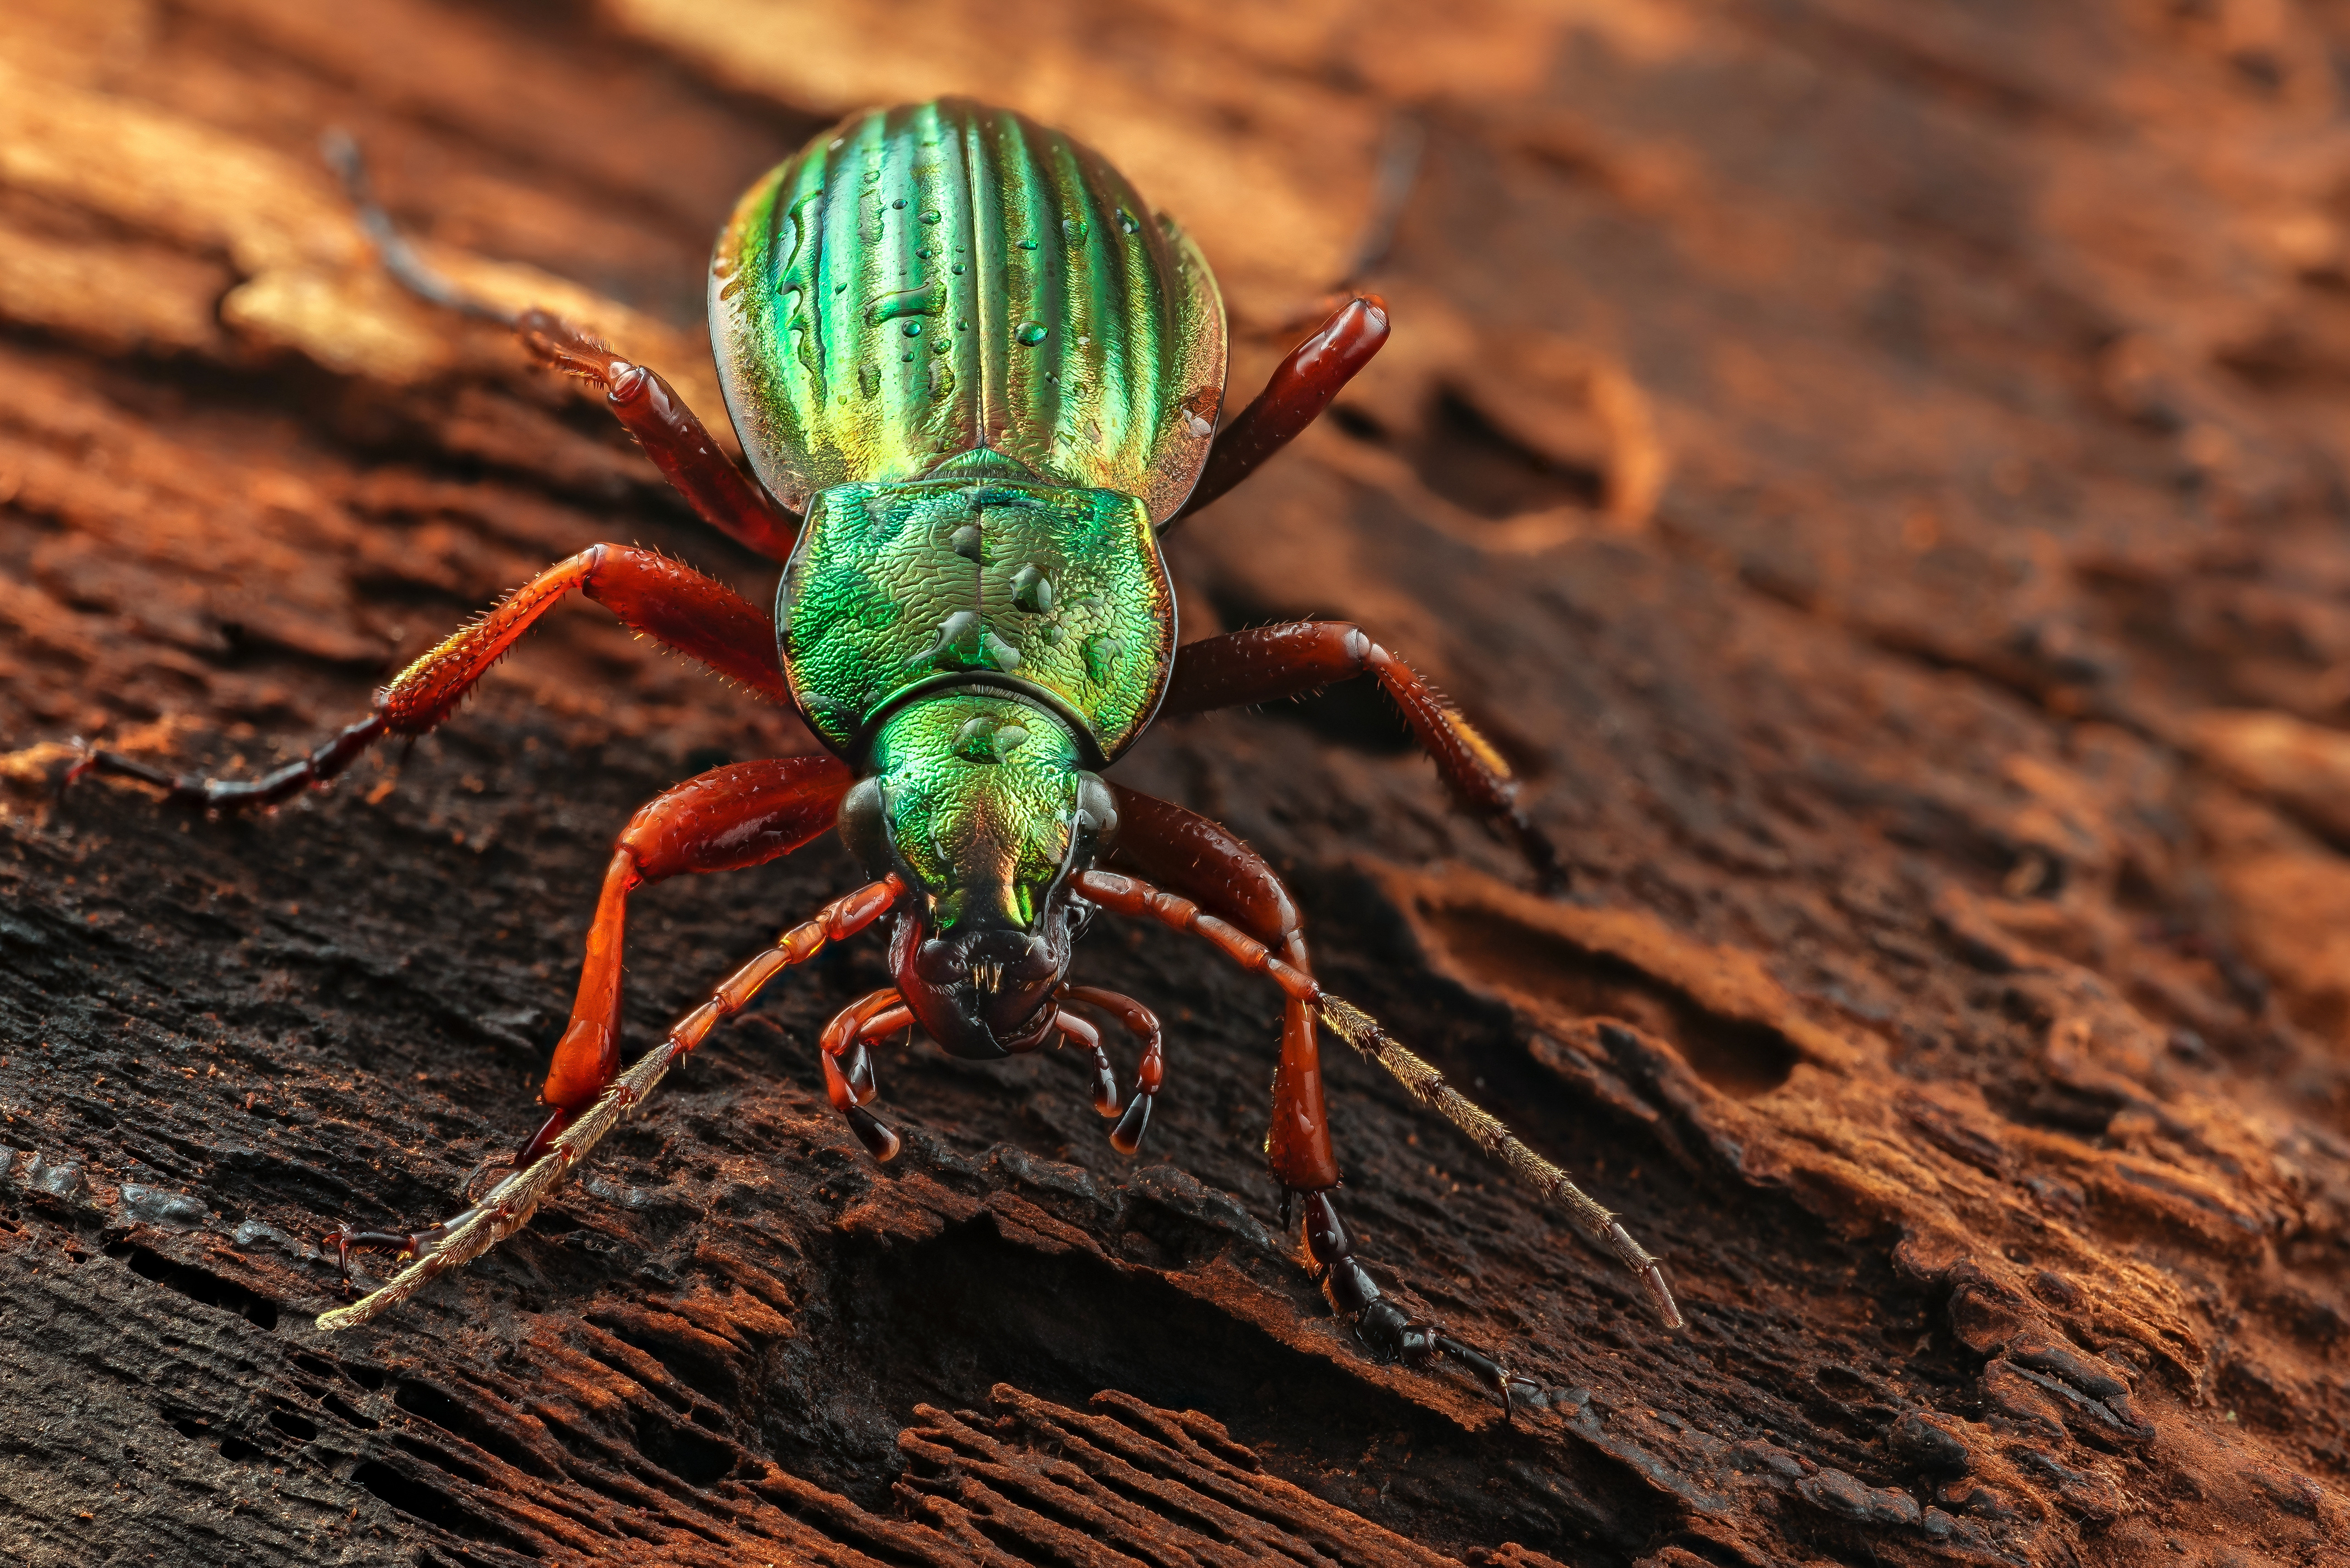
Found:
<svg viewBox="0 0 2350 1568"><path fill-rule="evenodd" d="M1250 708L1304 696L1356 675L1372 675L1403 710L1436 771L1464 811L1509 832L1544 891L1565 886L1558 846L1518 806L1518 780L1492 743L1476 733L1408 663L1347 621L1290 621L1224 632L1175 649L1163 715Z"/></svg>

